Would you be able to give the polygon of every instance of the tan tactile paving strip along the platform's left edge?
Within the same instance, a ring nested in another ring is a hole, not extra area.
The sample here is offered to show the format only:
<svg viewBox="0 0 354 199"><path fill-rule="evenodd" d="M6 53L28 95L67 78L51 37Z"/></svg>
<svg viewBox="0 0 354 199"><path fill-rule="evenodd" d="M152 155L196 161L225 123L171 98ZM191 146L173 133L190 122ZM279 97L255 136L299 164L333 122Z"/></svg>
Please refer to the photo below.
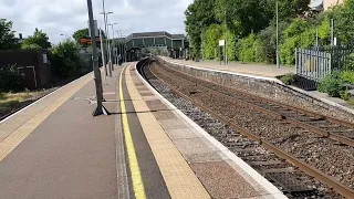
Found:
<svg viewBox="0 0 354 199"><path fill-rule="evenodd" d="M7 138L0 142L0 163L15 148L18 147L42 122L50 116L56 108L64 104L73 94L75 94L81 87L87 84L93 78L92 75L87 75L85 78L80 80L76 85L67 88L69 91L62 96L58 97L53 103L48 105L44 109L37 113L21 125L18 129L11 133Z"/></svg>

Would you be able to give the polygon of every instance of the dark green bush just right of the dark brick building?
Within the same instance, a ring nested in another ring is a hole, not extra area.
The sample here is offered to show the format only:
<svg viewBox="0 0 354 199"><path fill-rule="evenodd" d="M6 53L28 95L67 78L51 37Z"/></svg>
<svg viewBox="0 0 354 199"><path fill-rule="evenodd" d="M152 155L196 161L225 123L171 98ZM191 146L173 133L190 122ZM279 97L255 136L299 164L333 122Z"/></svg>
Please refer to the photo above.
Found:
<svg viewBox="0 0 354 199"><path fill-rule="evenodd" d="M50 53L54 74L70 77L77 73L80 66L80 46L71 40L60 42Z"/></svg>

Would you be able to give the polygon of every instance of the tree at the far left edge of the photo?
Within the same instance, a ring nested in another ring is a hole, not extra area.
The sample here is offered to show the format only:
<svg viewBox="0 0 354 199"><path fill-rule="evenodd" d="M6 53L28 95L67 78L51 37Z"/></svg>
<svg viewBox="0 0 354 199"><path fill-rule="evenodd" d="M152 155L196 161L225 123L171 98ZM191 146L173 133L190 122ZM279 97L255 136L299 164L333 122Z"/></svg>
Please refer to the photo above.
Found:
<svg viewBox="0 0 354 199"><path fill-rule="evenodd" d="M6 19L0 19L0 50L18 49L18 39L14 38L14 31L12 29L12 22Z"/></svg>

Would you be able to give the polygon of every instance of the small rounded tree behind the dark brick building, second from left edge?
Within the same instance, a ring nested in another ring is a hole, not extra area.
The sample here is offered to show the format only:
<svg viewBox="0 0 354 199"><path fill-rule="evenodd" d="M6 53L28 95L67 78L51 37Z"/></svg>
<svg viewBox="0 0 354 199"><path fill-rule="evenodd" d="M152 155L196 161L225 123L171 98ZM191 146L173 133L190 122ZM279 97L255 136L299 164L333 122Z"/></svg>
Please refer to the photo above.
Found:
<svg viewBox="0 0 354 199"><path fill-rule="evenodd" d="M49 49L52 46L51 42L49 42L46 33L38 28L35 28L33 35L30 35L23 41L22 49L25 46L33 46L33 44L39 45L41 49Z"/></svg>

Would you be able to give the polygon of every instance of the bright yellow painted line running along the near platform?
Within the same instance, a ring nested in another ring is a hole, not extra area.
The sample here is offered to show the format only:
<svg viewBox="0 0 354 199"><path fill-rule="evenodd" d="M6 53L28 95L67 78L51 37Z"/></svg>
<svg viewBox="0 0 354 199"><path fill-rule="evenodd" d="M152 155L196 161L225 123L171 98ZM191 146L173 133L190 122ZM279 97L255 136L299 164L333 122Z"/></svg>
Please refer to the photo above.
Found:
<svg viewBox="0 0 354 199"><path fill-rule="evenodd" d="M145 195L144 184L142 179L140 168L137 163L131 127L129 127L128 118L126 115L125 103L124 103L123 86L122 86L123 72L124 70L122 70L121 77L119 77L119 101L121 101L122 124L123 124L123 132L125 137L125 145L126 145L126 150L128 155L129 169L132 174L132 181L133 181L135 198L145 199L146 195Z"/></svg>

